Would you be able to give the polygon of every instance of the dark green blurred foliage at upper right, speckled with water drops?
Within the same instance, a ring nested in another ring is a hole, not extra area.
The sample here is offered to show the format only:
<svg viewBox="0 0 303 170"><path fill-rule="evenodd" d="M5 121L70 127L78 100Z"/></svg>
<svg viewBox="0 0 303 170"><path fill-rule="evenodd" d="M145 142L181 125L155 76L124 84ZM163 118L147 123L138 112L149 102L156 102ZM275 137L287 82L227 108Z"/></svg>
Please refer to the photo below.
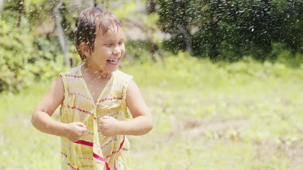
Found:
<svg viewBox="0 0 303 170"><path fill-rule="evenodd" d="M275 43L303 53L303 1L157 1L159 26L172 39L165 49L235 61L244 55L265 60Z"/></svg>

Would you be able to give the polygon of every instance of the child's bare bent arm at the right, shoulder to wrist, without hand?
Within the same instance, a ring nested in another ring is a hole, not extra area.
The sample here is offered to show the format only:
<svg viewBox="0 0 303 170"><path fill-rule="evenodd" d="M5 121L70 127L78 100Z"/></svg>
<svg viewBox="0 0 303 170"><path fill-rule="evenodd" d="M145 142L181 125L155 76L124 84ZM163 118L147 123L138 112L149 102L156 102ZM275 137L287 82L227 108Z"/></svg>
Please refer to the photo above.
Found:
<svg viewBox="0 0 303 170"><path fill-rule="evenodd" d="M153 129L153 117L141 96L137 84L132 80L126 90L126 105L133 119L121 121L118 134L144 135Z"/></svg>

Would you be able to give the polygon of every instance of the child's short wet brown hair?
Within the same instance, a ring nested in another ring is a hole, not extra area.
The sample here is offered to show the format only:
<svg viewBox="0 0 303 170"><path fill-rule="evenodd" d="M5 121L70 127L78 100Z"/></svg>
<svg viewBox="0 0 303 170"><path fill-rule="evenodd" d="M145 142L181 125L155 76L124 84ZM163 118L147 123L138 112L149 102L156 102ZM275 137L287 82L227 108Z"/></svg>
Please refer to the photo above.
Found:
<svg viewBox="0 0 303 170"><path fill-rule="evenodd" d="M77 18L74 31L74 45L76 53L85 60L86 56L80 50L81 42L85 42L90 53L94 50L94 40L97 32L106 33L110 28L123 28L117 15L103 7L91 7L83 10Z"/></svg>

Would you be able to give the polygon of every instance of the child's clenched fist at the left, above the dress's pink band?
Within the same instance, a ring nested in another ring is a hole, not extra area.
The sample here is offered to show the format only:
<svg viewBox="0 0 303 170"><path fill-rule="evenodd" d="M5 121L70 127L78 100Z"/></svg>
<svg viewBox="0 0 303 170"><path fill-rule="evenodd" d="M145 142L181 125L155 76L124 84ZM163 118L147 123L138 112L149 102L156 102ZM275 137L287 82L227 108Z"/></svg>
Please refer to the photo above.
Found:
<svg viewBox="0 0 303 170"><path fill-rule="evenodd" d="M66 138L73 142L77 142L86 131L86 126L82 122L68 123Z"/></svg>

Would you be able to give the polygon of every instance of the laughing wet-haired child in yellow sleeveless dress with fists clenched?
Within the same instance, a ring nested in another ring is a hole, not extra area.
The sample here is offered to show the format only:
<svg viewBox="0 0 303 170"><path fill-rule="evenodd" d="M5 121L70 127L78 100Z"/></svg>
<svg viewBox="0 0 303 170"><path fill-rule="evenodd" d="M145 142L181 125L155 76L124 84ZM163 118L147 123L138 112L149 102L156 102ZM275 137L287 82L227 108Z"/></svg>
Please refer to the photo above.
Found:
<svg viewBox="0 0 303 170"><path fill-rule="evenodd" d="M117 70L125 53L121 20L102 7L85 9L74 42L83 63L54 80L32 124L61 136L62 169L130 169L125 135L146 134L153 121L132 76ZM60 104L58 122L51 116Z"/></svg>

